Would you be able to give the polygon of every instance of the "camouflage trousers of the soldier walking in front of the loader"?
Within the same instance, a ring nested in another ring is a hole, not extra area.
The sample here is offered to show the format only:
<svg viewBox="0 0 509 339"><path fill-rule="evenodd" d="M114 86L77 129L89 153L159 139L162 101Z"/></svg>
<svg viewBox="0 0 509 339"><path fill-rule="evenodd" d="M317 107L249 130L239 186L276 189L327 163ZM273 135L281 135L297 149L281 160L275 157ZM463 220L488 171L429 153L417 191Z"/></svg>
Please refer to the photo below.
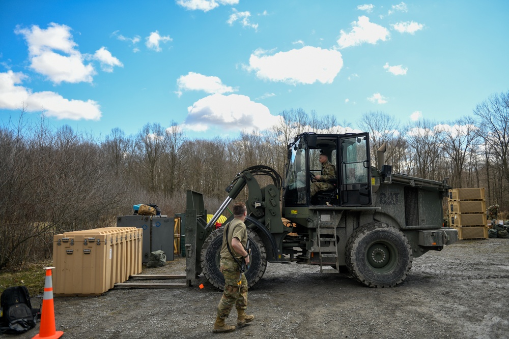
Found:
<svg viewBox="0 0 509 339"><path fill-rule="evenodd" d="M221 319L228 318L233 305L237 310L247 308L247 280L242 273L242 285L239 286L240 267L233 260L222 259L219 263L219 270L224 275L224 291L217 305L217 316Z"/></svg>

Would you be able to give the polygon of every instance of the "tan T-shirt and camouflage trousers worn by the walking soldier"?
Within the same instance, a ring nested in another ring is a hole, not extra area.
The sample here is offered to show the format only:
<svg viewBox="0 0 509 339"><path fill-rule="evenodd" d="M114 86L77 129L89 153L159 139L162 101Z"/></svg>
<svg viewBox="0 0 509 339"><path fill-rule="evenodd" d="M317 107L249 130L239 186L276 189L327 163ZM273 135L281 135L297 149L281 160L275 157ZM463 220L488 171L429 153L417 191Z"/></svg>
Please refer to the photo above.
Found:
<svg viewBox="0 0 509 339"><path fill-rule="evenodd" d="M228 234L227 234L228 231ZM227 239L228 236L228 239ZM242 285L239 286L240 266L233 259L226 241L230 245L230 250L235 254L236 259L242 263L244 258L238 256L232 248L232 239L238 238L242 245L245 247L247 243L247 230L246 225L238 219L234 219L231 223L227 224L223 233L223 243L221 246L221 260L219 262L219 270L224 275L224 291L217 306L217 316L221 319L228 318L230 311L235 305L237 311L244 311L247 308L247 280L244 273L242 273Z"/></svg>

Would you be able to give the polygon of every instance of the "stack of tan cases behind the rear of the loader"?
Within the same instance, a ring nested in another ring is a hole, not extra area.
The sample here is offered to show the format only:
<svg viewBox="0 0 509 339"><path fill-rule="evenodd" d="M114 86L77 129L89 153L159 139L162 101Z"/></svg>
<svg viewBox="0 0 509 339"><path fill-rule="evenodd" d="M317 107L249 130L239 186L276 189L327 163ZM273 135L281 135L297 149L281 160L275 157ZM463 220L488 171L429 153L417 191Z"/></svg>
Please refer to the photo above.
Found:
<svg viewBox="0 0 509 339"><path fill-rule="evenodd" d="M484 188L449 190L449 225L458 230L458 239L487 239Z"/></svg>

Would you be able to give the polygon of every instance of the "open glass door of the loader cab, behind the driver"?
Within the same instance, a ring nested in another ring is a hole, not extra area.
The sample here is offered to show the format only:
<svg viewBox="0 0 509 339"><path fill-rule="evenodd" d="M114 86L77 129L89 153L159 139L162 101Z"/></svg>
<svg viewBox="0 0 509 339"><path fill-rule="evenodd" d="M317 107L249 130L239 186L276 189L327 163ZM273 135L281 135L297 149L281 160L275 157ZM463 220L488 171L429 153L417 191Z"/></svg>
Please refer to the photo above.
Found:
<svg viewBox="0 0 509 339"><path fill-rule="evenodd" d="M371 205L369 133L340 137L341 206Z"/></svg>

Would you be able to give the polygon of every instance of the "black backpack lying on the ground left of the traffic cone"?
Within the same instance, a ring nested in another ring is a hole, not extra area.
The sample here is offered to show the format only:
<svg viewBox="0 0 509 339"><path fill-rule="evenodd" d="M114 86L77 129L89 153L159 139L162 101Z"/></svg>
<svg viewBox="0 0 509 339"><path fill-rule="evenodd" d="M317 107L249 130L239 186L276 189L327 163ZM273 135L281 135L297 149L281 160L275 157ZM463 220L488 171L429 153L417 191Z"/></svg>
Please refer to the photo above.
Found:
<svg viewBox="0 0 509 339"><path fill-rule="evenodd" d="M29 290L25 286L8 287L0 296L0 331L19 334L34 328L40 319L39 309L33 309Z"/></svg>

